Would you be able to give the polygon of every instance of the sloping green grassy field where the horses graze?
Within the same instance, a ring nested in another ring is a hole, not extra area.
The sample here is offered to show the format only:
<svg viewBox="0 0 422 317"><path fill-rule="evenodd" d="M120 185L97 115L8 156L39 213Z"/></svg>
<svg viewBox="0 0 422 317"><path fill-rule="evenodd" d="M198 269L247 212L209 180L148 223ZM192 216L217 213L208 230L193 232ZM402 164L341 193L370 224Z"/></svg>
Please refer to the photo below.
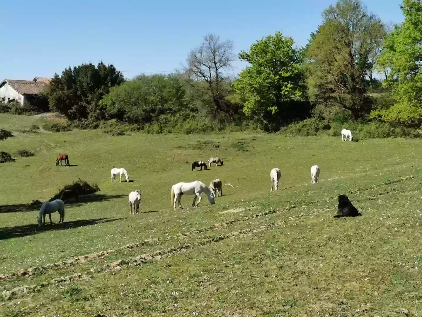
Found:
<svg viewBox="0 0 422 317"><path fill-rule="evenodd" d="M37 120L3 114L0 128ZM0 150L35 156L0 164L0 316L422 316L420 142L18 133ZM56 167L58 153L75 166ZM225 165L191 171L210 156ZM112 184L113 166L134 181ZM38 230L30 202L78 178L100 191ZM215 205L170 207L174 183L215 178L235 186ZM334 219L339 194L363 216Z"/></svg>

